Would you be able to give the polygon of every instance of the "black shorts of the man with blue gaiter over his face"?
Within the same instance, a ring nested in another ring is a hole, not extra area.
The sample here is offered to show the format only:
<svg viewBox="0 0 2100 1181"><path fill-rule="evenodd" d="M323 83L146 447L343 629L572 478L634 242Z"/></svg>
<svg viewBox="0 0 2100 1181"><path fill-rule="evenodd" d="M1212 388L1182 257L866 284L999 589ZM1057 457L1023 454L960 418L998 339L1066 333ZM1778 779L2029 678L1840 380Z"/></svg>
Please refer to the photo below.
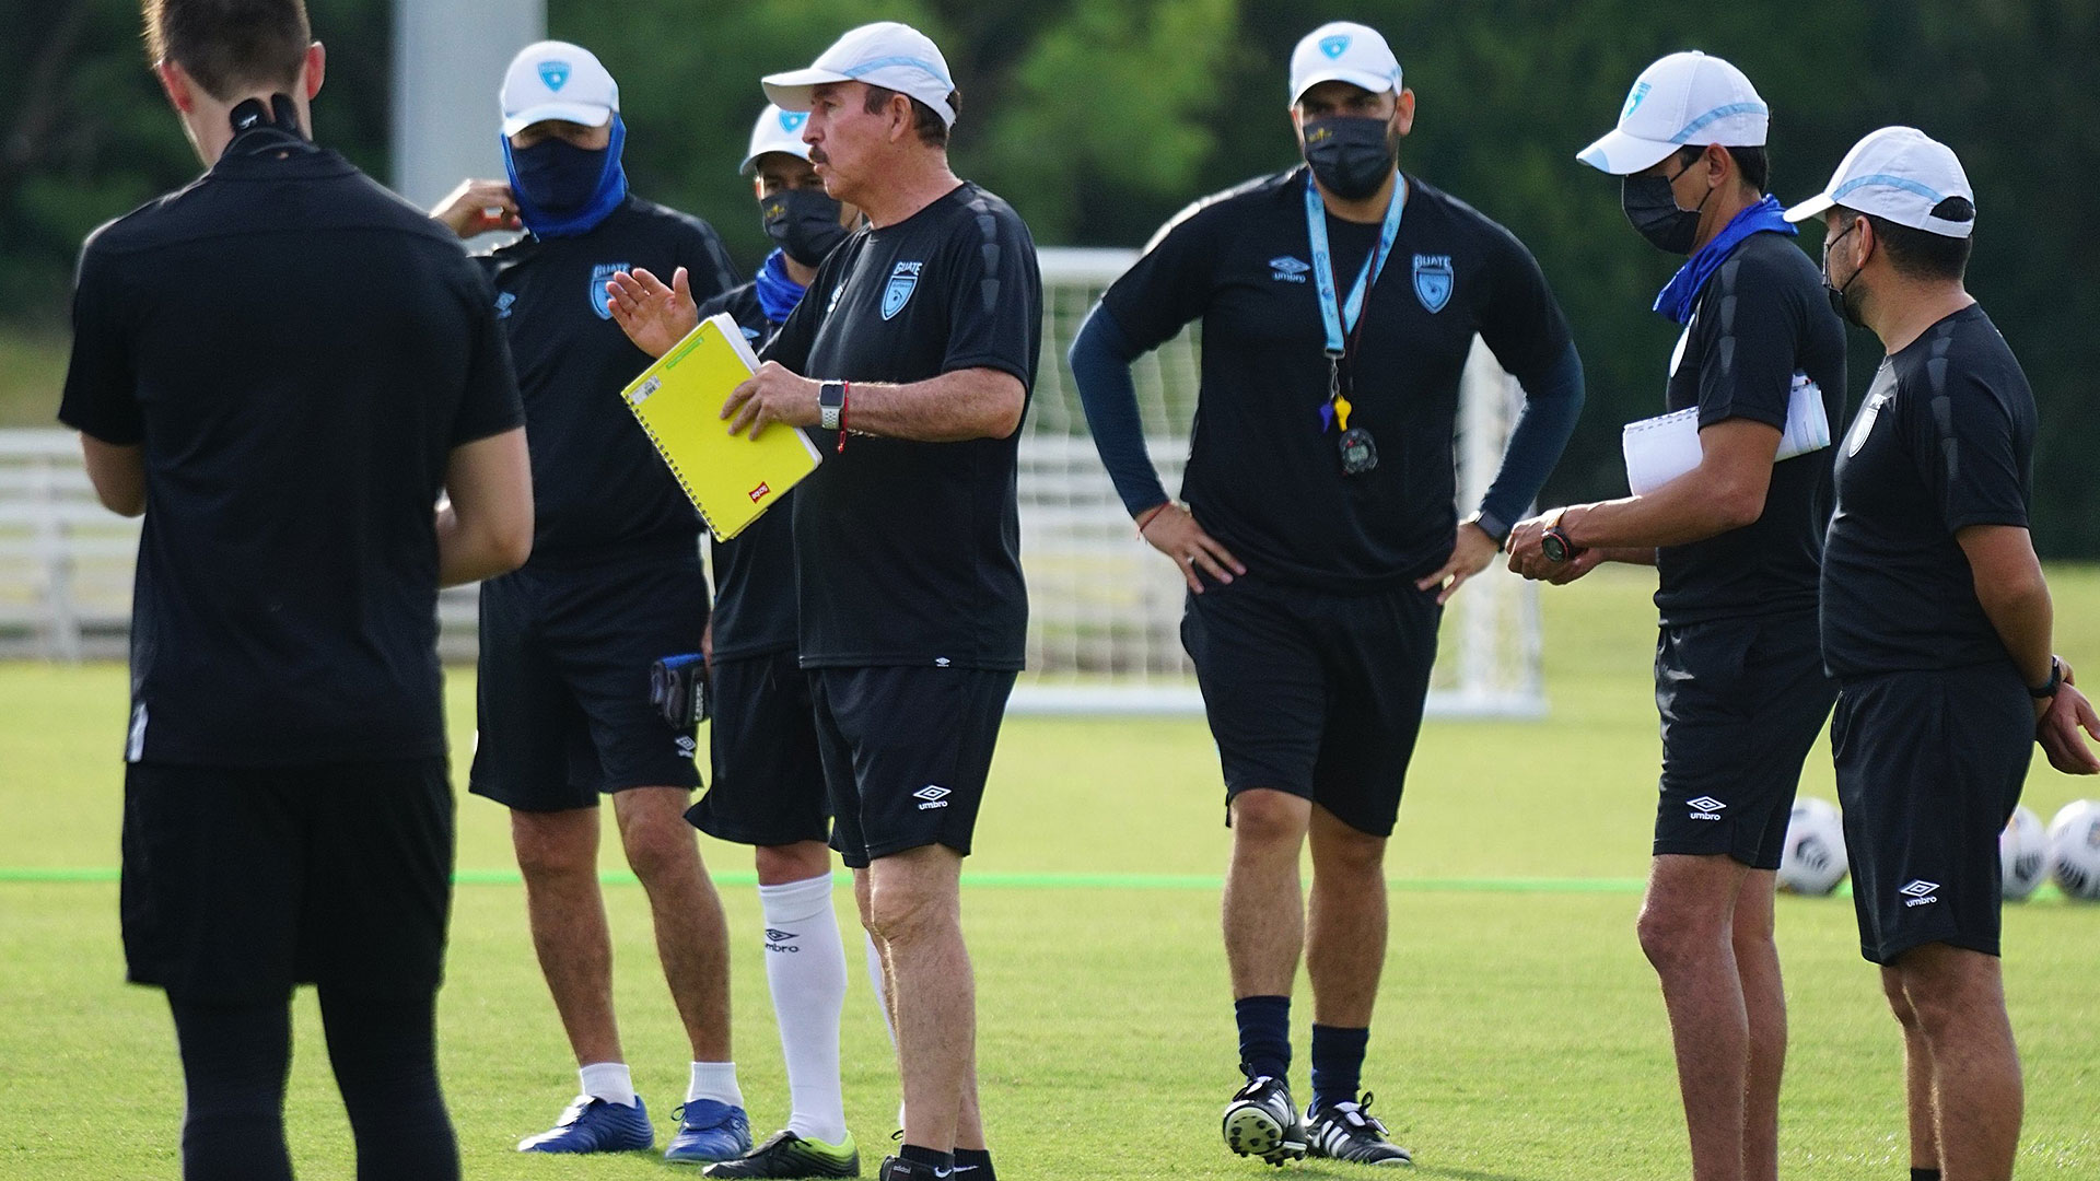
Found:
<svg viewBox="0 0 2100 1181"><path fill-rule="evenodd" d="M519 811L598 792L699 786L697 727L649 704L649 664L699 651L699 555L519 569L481 584L479 729L468 790Z"/></svg>

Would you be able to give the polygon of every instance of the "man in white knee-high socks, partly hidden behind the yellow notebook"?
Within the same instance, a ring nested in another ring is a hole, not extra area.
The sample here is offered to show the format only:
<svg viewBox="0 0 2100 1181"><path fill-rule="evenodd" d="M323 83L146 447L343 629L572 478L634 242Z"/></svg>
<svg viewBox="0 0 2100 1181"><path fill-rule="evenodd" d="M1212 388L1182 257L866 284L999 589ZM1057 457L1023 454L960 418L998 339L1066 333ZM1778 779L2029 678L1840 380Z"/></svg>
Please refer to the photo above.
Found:
<svg viewBox="0 0 2100 1181"><path fill-rule="evenodd" d="M699 307L727 311L764 347L802 303L817 265L846 240L861 210L823 191L802 143L804 111L766 105L752 126L743 172L756 174L758 214L777 244L758 275ZM674 286L689 286L682 273ZM790 496L794 496L790 492ZM808 677L796 664L794 513L775 504L733 540L712 544L708 727L714 782L685 817L701 832L754 847L766 983L788 1063L788 1126L710 1177L859 1177L838 1080L838 1019L846 952L832 910L832 805L817 750ZM872 975L880 994L880 962Z"/></svg>

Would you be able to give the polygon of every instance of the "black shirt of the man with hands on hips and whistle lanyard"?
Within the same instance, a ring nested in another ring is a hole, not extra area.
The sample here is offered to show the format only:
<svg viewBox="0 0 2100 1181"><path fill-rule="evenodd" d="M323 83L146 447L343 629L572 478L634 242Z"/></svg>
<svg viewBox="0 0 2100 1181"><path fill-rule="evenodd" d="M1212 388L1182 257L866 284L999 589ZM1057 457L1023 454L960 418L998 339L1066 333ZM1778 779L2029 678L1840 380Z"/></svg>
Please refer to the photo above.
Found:
<svg viewBox="0 0 2100 1181"><path fill-rule="evenodd" d="M1537 261L1478 210L1407 177L1407 206L1344 361L1350 427L1378 467L1344 475L1323 431L1327 332L1306 233L1306 170L1197 202L1102 296L1138 351L1203 322L1182 498L1247 569L1336 590L1420 578L1451 555L1460 374L1478 332L1527 389L1569 349ZM1327 214L1340 298L1380 225Z"/></svg>

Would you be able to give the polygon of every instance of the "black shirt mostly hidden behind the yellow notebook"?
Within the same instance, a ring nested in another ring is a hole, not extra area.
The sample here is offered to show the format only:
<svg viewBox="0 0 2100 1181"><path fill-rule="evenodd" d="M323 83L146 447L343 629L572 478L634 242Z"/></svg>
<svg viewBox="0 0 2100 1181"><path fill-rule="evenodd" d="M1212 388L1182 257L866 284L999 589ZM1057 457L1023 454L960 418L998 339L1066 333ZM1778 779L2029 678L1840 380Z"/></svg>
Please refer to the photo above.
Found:
<svg viewBox="0 0 2100 1181"><path fill-rule="evenodd" d="M779 324L766 319L758 284L731 288L699 305L699 317L727 311L752 349L762 349ZM714 542L714 658L794 649L794 490L727 542Z"/></svg>

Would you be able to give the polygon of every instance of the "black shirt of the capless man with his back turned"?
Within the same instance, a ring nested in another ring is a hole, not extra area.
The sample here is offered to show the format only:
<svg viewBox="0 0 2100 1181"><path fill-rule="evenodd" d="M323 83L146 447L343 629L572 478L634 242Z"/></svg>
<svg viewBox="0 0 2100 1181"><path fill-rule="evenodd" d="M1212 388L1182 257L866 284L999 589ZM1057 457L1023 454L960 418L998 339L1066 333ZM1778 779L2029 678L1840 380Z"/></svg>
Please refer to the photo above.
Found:
<svg viewBox="0 0 2100 1181"><path fill-rule="evenodd" d="M445 752L435 504L454 448L519 427L510 355L449 231L288 143L80 254L59 418L147 473L132 761Z"/></svg>

